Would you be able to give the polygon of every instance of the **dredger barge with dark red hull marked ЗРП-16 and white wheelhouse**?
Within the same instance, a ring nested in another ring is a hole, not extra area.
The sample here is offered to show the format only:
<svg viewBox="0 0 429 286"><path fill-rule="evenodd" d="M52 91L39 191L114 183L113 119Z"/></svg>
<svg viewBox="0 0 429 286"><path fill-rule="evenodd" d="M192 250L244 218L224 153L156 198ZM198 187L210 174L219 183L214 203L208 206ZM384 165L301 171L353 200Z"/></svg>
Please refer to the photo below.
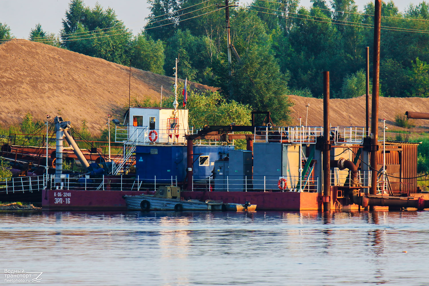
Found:
<svg viewBox="0 0 429 286"><path fill-rule="evenodd" d="M375 144L367 127L330 127L329 92L323 114L324 126L272 126L269 112L255 111L250 126L195 130L186 109L130 107L124 124L113 120L122 154L91 164L68 134L70 122L55 117L54 174L14 178L1 193L39 192L47 210L124 210L124 196L160 186L178 187L183 200L251 202L257 210L429 208L417 188L418 143ZM85 174L63 174L64 139ZM239 139L247 150L234 148Z"/></svg>

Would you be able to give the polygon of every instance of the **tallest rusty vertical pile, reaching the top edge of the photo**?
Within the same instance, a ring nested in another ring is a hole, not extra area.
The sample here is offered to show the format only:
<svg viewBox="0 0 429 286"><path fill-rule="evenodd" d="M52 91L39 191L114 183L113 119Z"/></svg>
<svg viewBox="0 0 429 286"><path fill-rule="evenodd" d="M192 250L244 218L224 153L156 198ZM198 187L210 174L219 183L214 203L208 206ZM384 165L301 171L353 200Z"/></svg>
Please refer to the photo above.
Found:
<svg viewBox="0 0 429 286"><path fill-rule="evenodd" d="M381 0L375 0L374 12L374 58L372 74L372 108L371 108L371 189L377 193L377 149L378 149L378 87L380 83L380 34L381 34ZM373 209L373 208L372 208Z"/></svg>

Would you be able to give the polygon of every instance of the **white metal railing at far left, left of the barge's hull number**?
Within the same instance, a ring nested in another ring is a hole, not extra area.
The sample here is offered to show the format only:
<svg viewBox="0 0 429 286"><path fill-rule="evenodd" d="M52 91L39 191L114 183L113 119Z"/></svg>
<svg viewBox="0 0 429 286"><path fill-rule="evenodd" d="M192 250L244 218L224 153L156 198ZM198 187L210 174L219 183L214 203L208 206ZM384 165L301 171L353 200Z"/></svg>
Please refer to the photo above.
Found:
<svg viewBox="0 0 429 286"><path fill-rule="evenodd" d="M15 193L15 192L36 192L42 190L46 186L45 175L15 177L15 178L0 178L0 193Z"/></svg>

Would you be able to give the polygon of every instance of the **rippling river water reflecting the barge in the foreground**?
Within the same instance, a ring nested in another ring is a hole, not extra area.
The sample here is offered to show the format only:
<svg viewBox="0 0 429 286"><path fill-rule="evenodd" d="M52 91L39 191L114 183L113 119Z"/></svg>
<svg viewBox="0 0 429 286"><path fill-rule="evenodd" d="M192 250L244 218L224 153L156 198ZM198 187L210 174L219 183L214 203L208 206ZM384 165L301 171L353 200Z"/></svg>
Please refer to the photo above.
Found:
<svg viewBox="0 0 429 286"><path fill-rule="evenodd" d="M426 211L20 211L0 226L2 273L38 285L429 285Z"/></svg>

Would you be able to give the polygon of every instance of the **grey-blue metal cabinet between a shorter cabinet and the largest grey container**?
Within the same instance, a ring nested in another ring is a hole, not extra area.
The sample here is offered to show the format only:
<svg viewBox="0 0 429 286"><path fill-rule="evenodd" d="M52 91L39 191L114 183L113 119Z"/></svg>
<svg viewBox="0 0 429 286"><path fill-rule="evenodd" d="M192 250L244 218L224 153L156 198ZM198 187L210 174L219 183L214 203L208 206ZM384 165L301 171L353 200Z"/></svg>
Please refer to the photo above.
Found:
<svg viewBox="0 0 429 286"><path fill-rule="evenodd" d="M252 151L230 150L229 191L242 192L252 184Z"/></svg>

